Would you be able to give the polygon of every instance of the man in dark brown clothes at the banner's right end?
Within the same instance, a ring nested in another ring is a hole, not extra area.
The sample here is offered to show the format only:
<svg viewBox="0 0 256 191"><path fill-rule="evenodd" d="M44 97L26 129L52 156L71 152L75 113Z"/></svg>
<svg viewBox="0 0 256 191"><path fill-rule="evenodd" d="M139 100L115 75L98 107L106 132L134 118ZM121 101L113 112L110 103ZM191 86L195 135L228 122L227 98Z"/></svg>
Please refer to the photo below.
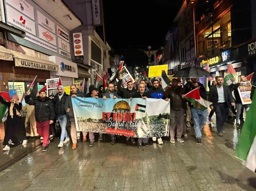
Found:
<svg viewBox="0 0 256 191"><path fill-rule="evenodd" d="M184 143L182 139L184 128L184 116L186 110L186 100L182 98L184 89L178 86L178 80L172 79L172 86L167 90L167 98L170 99L170 137L171 143L175 143L175 129L177 127L177 140ZM168 99L166 99L167 101Z"/></svg>

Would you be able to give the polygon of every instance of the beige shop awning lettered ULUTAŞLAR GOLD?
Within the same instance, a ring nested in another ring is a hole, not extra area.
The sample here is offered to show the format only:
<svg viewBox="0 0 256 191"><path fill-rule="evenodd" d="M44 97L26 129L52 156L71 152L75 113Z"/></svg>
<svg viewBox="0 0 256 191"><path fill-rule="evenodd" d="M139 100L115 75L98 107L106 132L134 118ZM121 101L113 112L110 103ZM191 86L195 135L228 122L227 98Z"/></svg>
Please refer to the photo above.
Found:
<svg viewBox="0 0 256 191"><path fill-rule="evenodd" d="M26 54L12 52L15 60L15 66L33 68L38 70L58 71L58 64L49 60L31 57Z"/></svg>

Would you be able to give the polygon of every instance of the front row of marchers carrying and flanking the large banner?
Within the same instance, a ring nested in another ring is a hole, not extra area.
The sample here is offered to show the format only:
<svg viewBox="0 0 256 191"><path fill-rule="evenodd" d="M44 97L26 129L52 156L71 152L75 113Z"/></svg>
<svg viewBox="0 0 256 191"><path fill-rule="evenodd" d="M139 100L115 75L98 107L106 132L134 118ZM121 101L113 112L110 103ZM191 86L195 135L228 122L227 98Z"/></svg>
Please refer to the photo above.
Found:
<svg viewBox="0 0 256 191"><path fill-rule="evenodd" d="M77 129L75 125L75 118L73 113L72 101L74 97L81 98L103 98L106 99L130 99L133 98L154 98L164 99L170 102L170 142L175 143L176 138L180 143L184 143L183 137L187 136L187 127L190 127L190 120L194 122L194 130L196 134L196 143L202 144L201 130L206 125L207 113L206 110L201 111L199 108L195 108L192 103L185 99L185 94L199 87L200 97L207 100L207 93L205 87L199 83L198 78L189 78L187 83L183 85L181 79L172 79L171 84L164 91L161 87L161 80L154 79L153 81L140 80L138 88L134 86L132 81L128 81L127 88L121 87L122 76L119 76L119 81L116 85L108 84L108 92L104 93L103 86L97 89L94 85L89 87L89 93L86 95L80 92L75 85L70 86L70 95L67 95L63 86L57 87L57 94L54 97L47 97L46 90L40 90L39 96L35 99L30 98L30 91L26 92L25 102L29 105L35 106L35 120L36 129L39 136L43 137L42 152L47 150L50 143L50 125L57 119L61 126L61 137L58 147L63 147L63 144L68 143L71 138L72 149L77 148ZM210 86L208 100L212 102L211 113L208 120L211 121L213 113L216 114L217 133L218 136L223 136L224 121L226 119L229 108L234 106L234 99L231 91L234 91L236 100L236 123L240 126L240 114L243 109L249 110L250 105L242 105L240 96L237 92L238 84L232 84L230 87L223 85L223 77L215 77ZM240 76L240 81L247 81L244 75ZM21 103L18 103L19 98L15 95L11 97L11 102L5 101L0 96L0 101L9 107L7 117L7 127L4 139L5 148L3 150L9 150L10 144L20 143L26 144L25 127L20 116L22 110ZM15 133L13 133L15 131ZM95 135L94 132L82 132L83 142L87 141L87 134L89 134L90 144L94 145ZM111 144L116 143L117 135L111 134ZM99 140L103 139L103 134L99 134ZM136 144L135 138L127 137L127 140L131 139L133 144ZM149 138L138 138L138 147L141 148L142 142L145 146L148 146ZM159 144L163 144L161 137L153 137L153 141L158 141Z"/></svg>

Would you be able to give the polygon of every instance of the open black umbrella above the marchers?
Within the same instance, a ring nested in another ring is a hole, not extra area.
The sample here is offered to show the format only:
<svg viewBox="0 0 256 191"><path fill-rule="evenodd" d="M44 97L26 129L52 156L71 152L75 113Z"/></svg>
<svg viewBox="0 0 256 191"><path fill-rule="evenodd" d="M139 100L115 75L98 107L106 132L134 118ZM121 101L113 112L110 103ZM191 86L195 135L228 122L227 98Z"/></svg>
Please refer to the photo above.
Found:
<svg viewBox="0 0 256 191"><path fill-rule="evenodd" d="M200 77L212 77L207 70L195 66L183 68L176 72L173 77L180 78L200 78Z"/></svg>

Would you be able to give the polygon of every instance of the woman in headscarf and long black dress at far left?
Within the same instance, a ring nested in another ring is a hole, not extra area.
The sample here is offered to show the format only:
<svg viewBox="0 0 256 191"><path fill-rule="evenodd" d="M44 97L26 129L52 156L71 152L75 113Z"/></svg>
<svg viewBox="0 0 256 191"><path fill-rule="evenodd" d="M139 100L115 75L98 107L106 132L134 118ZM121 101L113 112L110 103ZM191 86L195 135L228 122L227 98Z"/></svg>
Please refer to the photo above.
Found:
<svg viewBox="0 0 256 191"><path fill-rule="evenodd" d="M25 125L20 114L22 110L22 103L19 103L19 97L13 95L11 97L11 102L5 101L4 98L0 96L1 104L8 106L8 116L5 129L5 138L4 138L4 151L10 149L9 144L17 144L23 141L25 145L28 141L26 140L26 130Z"/></svg>

